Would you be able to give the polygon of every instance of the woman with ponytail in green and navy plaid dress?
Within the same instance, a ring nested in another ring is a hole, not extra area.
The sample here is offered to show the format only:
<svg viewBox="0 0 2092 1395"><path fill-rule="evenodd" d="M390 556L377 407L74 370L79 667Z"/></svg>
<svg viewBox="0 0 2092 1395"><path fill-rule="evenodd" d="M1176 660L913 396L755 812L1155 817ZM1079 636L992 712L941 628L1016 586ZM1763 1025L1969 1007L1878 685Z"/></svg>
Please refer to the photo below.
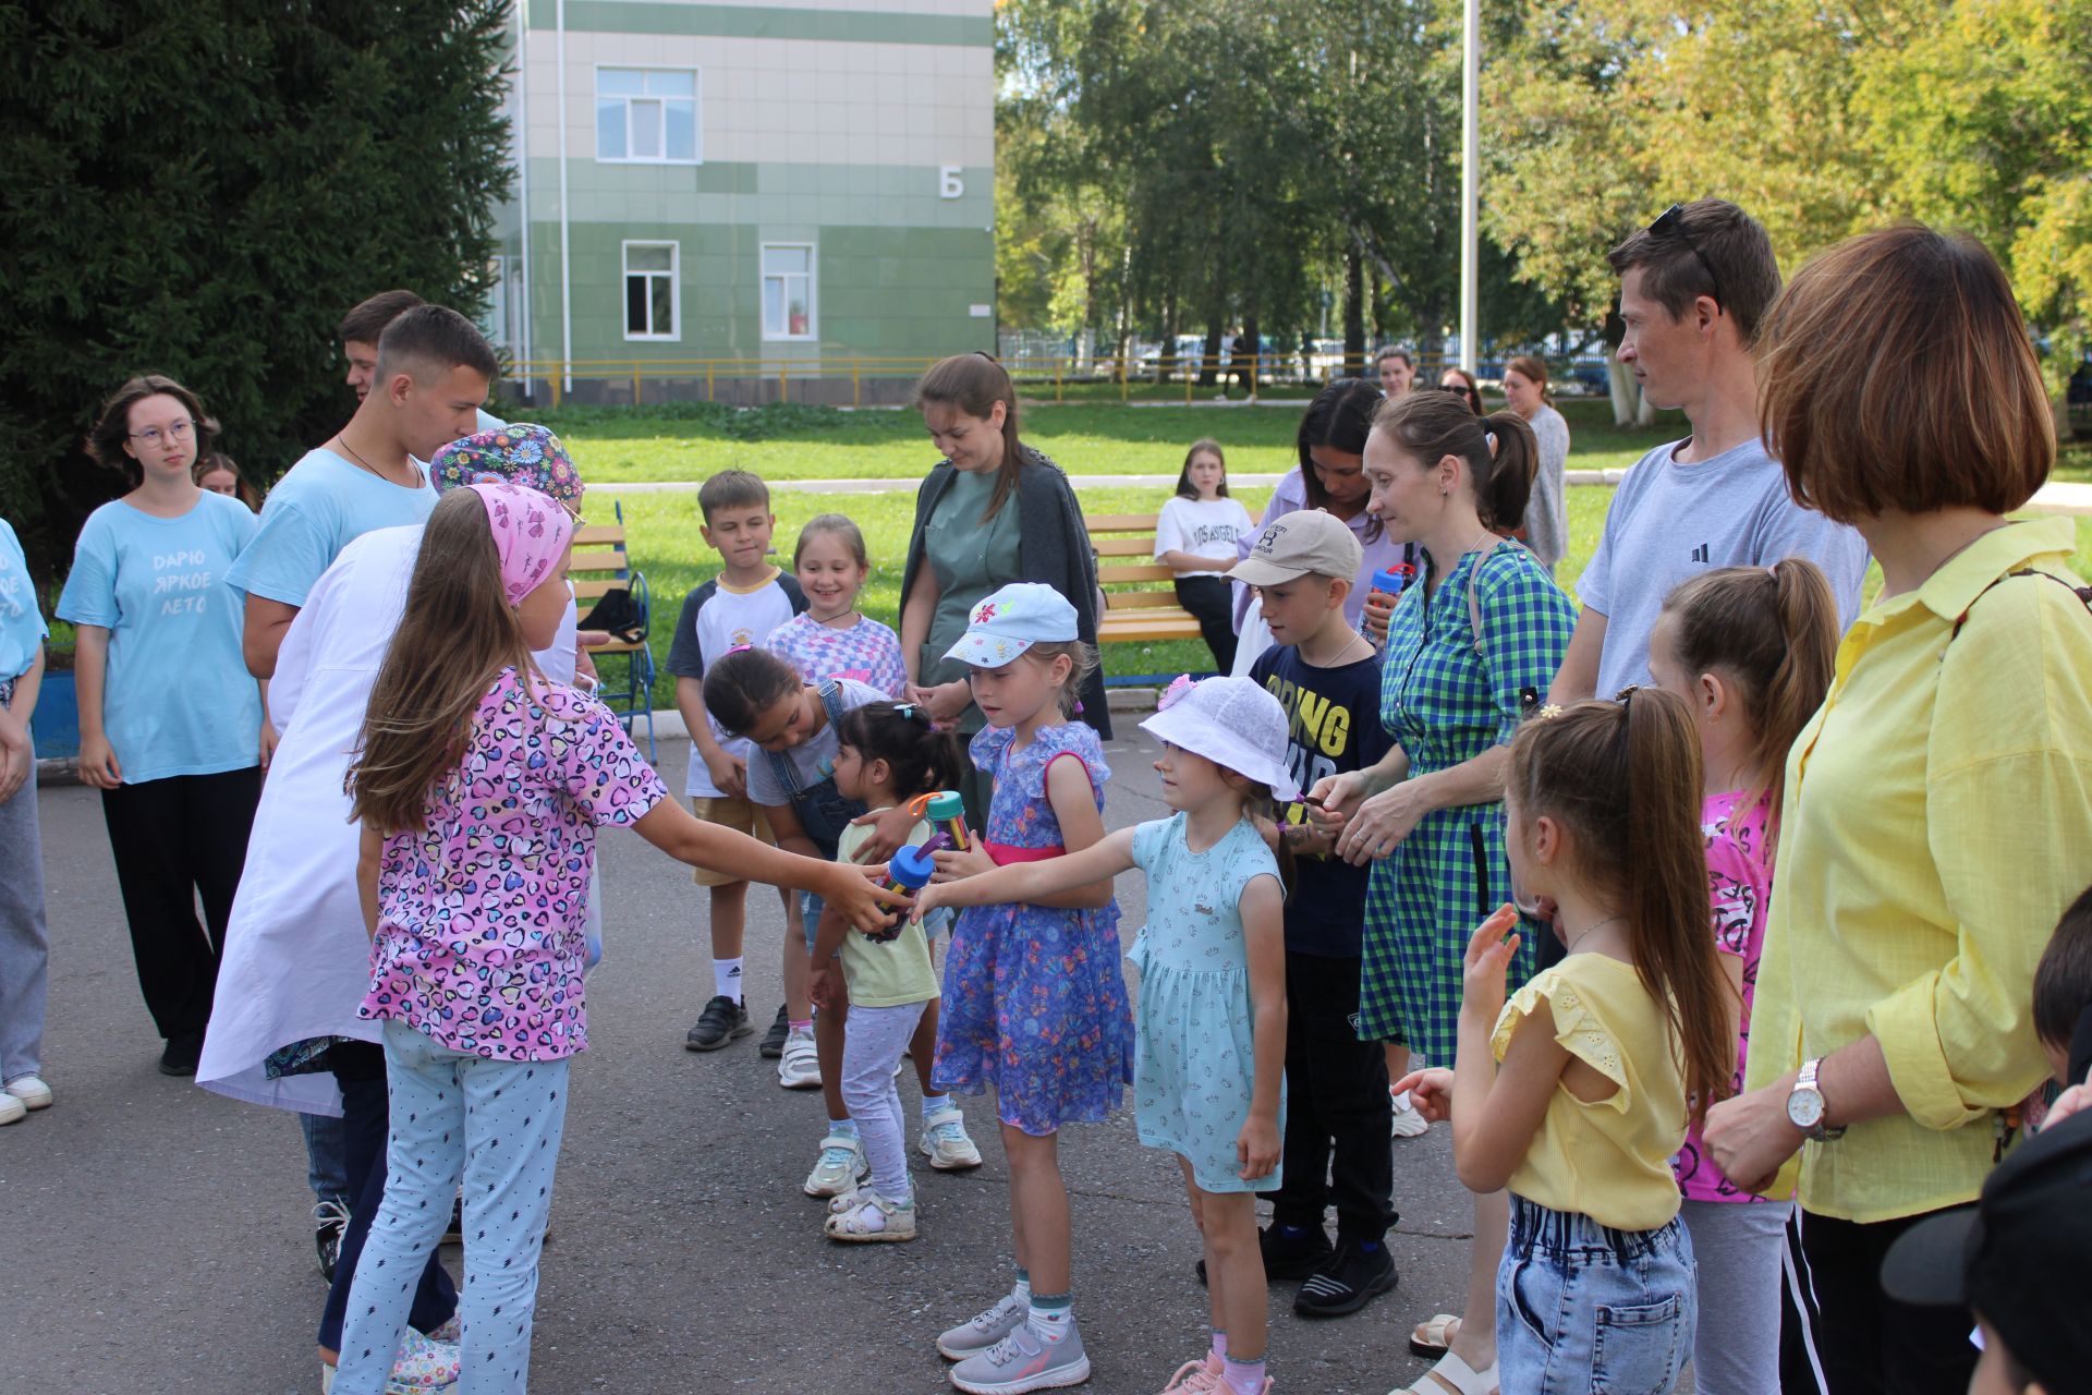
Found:
<svg viewBox="0 0 2092 1395"><path fill-rule="evenodd" d="M1529 701L1554 682L1575 609L1531 552L1492 529L1525 514L1538 448L1510 412L1473 416L1446 393L1393 397L1366 439L1368 508L1389 538L1416 542L1420 575L1387 621L1381 724L1395 738L1370 768L1322 780L1324 824L1347 862L1372 864L1366 889L1358 1035L1408 1039L1450 1067L1460 1023L1460 968L1475 924L1510 899L1504 860L1504 765ZM1536 927L1510 983L1533 973ZM1475 1198L1469 1318L1441 1316L1412 1349L1443 1351L1441 1380L1496 1385L1496 1261L1508 1209Z"/></svg>

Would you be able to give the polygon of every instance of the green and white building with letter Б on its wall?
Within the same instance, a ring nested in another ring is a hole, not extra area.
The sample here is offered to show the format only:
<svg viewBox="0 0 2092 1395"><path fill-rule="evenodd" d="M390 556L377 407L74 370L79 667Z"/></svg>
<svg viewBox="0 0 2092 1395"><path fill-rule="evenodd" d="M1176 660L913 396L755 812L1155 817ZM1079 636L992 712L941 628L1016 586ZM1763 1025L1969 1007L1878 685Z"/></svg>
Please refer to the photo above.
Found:
<svg viewBox="0 0 2092 1395"><path fill-rule="evenodd" d="M992 0L519 0L513 44L517 389L891 402L994 351Z"/></svg>

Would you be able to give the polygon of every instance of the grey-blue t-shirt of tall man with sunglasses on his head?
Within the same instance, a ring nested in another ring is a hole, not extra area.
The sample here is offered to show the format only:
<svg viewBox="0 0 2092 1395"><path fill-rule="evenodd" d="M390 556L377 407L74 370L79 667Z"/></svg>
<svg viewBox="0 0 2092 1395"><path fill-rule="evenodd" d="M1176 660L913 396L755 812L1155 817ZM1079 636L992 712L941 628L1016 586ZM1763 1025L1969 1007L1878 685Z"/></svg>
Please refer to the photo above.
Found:
<svg viewBox="0 0 2092 1395"><path fill-rule="evenodd" d="M1605 615L1598 696L1648 684L1648 632L1680 581L1715 567L1770 567L1805 556L1837 596L1839 634L1860 613L1866 540L1795 504L1787 473L1751 437L1720 456L1680 464L1684 441L1657 445L1619 481L1605 533L1577 598Z"/></svg>

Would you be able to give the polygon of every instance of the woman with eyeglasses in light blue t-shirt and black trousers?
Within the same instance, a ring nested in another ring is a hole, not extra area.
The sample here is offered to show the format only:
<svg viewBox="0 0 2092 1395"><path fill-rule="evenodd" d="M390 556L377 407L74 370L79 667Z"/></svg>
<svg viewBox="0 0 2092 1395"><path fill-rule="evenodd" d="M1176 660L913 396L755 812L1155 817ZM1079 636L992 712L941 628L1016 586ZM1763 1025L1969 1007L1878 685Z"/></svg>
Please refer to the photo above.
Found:
<svg viewBox="0 0 2092 1395"><path fill-rule="evenodd" d="M88 514L59 596L77 630L79 778L103 791L163 1075L197 1073L272 742L226 586L255 514L190 475L215 435L197 395L161 374L103 404L86 452L130 487Z"/></svg>

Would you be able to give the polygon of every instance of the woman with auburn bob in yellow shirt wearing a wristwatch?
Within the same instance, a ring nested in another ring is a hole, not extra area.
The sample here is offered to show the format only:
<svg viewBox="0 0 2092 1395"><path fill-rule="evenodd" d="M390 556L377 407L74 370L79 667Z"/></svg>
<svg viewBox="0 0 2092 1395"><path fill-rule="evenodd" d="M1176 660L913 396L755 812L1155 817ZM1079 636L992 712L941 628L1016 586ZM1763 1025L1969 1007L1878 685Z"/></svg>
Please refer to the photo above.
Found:
<svg viewBox="0 0 2092 1395"><path fill-rule="evenodd" d="M2048 1075L2033 966L2088 876L2092 617L2071 523L2006 521L2056 439L1981 245L1851 238L1787 287L1764 353L1766 445L1883 590L1789 755L1745 1094L1707 1146L1753 1192L1799 1175L1833 1395L1958 1393L1971 1322L1883 1297L1881 1259L1977 1198Z"/></svg>

